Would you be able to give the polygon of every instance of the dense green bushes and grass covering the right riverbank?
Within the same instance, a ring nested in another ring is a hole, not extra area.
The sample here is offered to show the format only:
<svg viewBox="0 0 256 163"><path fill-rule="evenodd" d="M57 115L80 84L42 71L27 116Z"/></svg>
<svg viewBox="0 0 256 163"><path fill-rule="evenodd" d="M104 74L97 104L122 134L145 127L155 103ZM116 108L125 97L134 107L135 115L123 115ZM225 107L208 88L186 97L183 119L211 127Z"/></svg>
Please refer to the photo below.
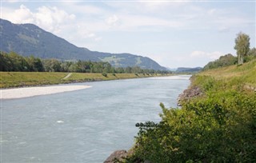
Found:
<svg viewBox="0 0 256 163"><path fill-rule="evenodd" d="M255 62L232 71L244 74L247 69L254 71ZM250 78L255 84L255 75ZM162 121L137 124L134 153L126 162L256 161L256 93L230 76L198 74L192 82L205 96L183 103L181 109L160 104Z"/></svg>

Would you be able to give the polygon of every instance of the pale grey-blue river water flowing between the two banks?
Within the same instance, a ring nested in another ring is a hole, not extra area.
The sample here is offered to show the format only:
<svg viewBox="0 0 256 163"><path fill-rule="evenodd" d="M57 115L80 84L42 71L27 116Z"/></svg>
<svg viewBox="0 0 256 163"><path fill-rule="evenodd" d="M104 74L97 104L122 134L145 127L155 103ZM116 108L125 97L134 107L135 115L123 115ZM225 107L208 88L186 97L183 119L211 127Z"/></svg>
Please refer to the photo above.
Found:
<svg viewBox="0 0 256 163"><path fill-rule="evenodd" d="M66 93L1 101L1 162L90 162L130 149L137 122L160 121L190 76L98 81Z"/></svg>

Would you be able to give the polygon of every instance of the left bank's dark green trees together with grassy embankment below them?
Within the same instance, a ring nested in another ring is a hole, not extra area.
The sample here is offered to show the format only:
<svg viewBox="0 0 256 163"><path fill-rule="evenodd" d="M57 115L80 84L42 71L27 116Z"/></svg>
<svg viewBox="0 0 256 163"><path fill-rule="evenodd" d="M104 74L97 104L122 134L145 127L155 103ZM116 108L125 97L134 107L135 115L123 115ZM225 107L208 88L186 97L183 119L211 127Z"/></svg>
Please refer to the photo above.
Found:
<svg viewBox="0 0 256 163"><path fill-rule="evenodd" d="M170 75L166 70L113 67L108 62L68 62L57 59L22 57L14 52L0 53L0 88L53 85L84 81L107 81Z"/></svg>

